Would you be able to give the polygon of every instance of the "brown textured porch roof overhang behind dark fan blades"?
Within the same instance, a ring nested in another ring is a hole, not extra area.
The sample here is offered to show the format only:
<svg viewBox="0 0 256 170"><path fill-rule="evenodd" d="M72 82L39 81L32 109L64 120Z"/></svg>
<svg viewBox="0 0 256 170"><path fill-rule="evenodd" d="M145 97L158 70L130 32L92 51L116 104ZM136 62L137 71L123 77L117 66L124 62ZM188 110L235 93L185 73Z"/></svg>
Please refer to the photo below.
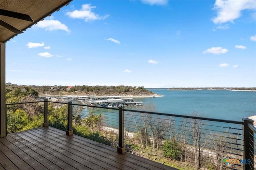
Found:
<svg viewBox="0 0 256 170"><path fill-rule="evenodd" d="M65 5L68 5L71 1L72 0L0 0L0 9L27 14L33 20L26 21L4 16L1 15L0 11L0 20L3 21L0 26L0 42L5 43L9 39L18 35L18 33L14 33L2 26L5 23L21 31L25 31L32 25L44 20L47 16L50 16L53 12L58 11Z"/></svg>

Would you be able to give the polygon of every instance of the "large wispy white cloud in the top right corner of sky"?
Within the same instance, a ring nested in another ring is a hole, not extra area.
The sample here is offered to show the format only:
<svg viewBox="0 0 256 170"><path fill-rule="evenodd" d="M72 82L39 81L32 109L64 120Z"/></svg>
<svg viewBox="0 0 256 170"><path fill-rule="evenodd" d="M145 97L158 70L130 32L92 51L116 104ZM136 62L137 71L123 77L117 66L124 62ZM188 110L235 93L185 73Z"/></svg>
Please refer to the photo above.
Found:
<svg viewBox="0 0 256 170"><path fill-rule="evenodd" d="M217 16L212 19L215 24L233 22L241 16L243 10L256 10L255 0L216 0L214 10Z"/></svg>

